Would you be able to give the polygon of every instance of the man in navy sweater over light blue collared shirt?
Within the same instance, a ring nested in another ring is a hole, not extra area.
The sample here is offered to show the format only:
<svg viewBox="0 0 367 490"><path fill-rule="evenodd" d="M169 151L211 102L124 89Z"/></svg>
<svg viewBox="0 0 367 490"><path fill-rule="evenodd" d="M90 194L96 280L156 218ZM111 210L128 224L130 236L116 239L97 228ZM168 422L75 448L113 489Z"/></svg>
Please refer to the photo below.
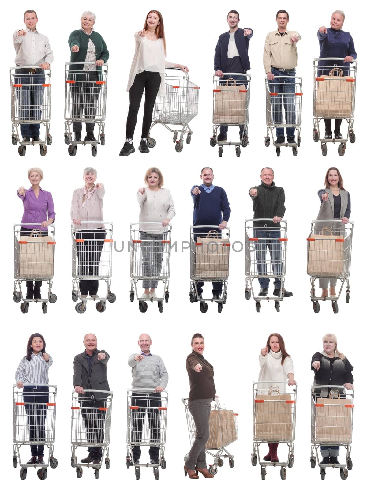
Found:
<svg viewBox="0 0 367 490"><path fill-rule="evenodd" d="M220 230L227 226L231 214L231 208L227 195L219 186L213 184L214 173L210 167L204 167L200 173L201 185L191 188L191 196L194 199L193 225L215 225ZM206 237L210 228L194 228L196 237ZM213 282L213 296L219 298L222 292L222 282ZM204 283L197 282L197 292L201 296Z"/></svg>

